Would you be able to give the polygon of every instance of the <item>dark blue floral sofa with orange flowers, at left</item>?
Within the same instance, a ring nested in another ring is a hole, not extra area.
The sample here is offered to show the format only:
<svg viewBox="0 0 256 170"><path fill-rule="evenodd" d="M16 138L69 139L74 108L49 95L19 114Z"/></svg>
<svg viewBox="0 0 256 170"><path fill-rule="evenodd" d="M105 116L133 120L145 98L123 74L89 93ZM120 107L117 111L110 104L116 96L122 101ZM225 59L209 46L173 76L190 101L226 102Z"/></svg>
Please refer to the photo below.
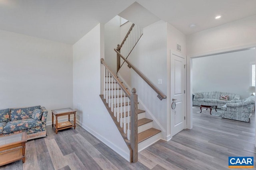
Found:
<svg viewBox="0 0 256 170"><path fill-rule="evenodd" d="M27 132L27 140L46 137L45 107L0 109L0 136Z"/></svg>

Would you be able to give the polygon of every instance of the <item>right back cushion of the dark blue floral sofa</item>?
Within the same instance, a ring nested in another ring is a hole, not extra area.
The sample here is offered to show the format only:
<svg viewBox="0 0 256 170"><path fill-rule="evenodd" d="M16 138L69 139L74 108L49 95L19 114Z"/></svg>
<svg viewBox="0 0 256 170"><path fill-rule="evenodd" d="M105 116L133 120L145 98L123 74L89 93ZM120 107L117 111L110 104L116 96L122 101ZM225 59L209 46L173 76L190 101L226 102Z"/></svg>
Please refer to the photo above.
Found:
<svg viewBox="0 0 256 170"><path fill-rule="evenodd" d="M40 106L11 109L11 121L31 118L34 109L40 109Z"/></svg>

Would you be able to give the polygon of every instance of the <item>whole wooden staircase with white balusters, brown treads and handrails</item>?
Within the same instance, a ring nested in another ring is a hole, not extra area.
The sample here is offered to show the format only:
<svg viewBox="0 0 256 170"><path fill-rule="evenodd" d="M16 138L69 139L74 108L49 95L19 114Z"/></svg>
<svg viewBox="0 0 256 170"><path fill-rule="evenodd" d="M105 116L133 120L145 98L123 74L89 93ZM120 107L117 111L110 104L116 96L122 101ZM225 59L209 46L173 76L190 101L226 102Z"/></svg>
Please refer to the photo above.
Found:
<svg viewBox="0 0 256 170"><path fill-rule="evenodd" d="M132 68L162 100L166 96L126 60L142 34L142 28L132 24L121 45L114 49L117 53L117 72L126 62L129 68ZM131 92L128 91L116 76L117 73L112 72L104 59L101 59L101 64L104 65L104 93L100 98L130 150L130 162L137 162L138 151L158 141L161 138L161 131L153 127L153 120L146 118L145 110L139 109L136 89L132 88Z"/></svg>

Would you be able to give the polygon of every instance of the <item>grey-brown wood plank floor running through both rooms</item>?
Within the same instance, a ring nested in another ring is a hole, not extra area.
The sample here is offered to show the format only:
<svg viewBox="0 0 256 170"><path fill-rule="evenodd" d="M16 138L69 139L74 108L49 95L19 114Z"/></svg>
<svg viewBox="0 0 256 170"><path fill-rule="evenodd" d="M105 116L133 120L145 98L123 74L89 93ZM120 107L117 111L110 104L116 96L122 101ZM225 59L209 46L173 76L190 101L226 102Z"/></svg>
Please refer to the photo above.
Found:
<svg viewBox="0 0 256 170"><path fill-rule="evenodd" d="M20 160L0 169L228 170L228 156L256 156L254 113L246 123L198 114L199 107L193 107L193 129L156 142L139 153L136 163L127 162L79 125L58 134L47 126L47 137L26 143L24 164Z"/></svg>

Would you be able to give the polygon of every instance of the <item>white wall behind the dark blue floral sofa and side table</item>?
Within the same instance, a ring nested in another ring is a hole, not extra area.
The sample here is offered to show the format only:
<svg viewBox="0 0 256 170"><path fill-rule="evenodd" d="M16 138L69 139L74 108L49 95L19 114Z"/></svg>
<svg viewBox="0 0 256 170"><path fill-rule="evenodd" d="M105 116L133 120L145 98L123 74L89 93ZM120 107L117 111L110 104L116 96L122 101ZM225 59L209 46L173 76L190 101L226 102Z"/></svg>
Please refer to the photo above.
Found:
<svg viewBox="0 0 256 170"><path fill-rule="evenodd" d="M0 30L0 108L72 107L72 45Z"/></svg>

